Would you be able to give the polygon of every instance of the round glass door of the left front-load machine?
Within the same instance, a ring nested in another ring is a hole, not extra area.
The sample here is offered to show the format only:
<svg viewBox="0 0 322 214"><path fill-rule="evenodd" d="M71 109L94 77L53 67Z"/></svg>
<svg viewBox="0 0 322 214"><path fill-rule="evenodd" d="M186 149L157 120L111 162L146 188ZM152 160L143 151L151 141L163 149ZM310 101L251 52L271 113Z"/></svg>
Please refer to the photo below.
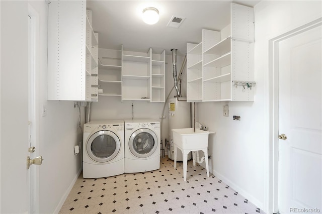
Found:
<svg viewBox="0 0 322 214"><path fill-rule="evenodd" d="M89 138L86 148L92 160L105 163L117 156L120 147L120 139L114 132L102 130Z"/></svg>

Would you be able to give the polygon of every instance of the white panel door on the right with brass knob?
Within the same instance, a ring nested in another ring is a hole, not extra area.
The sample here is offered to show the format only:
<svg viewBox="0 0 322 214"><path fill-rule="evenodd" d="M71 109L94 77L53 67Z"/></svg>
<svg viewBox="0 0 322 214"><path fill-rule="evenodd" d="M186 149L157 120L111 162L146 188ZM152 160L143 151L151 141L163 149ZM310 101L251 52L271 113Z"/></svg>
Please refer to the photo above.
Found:
<svg viewBox="0 0 322 214"><path fill-rule="evenodd" d="M321 211L321 26L279 42L280 213ZM313 210L315 209L315 211Z"/></svg>

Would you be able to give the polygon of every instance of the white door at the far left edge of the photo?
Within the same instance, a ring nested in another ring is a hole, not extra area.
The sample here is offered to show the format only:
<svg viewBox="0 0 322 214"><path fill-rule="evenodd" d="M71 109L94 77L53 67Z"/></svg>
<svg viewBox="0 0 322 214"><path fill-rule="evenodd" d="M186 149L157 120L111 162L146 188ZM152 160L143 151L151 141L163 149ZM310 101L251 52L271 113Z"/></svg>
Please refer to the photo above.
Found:
<svg viewBox="0 0 322 214"><path fill-rule="evenodd" d="M28 213L28 2L1 1L0 4L0 212Z"/></svg>

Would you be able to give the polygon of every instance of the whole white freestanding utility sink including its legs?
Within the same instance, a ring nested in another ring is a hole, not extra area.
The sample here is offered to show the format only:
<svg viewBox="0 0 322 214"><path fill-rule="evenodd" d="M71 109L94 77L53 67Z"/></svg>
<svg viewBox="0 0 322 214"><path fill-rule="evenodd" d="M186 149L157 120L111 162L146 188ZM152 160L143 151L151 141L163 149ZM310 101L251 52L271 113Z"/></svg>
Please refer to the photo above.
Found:
<svg viewBox="0 0 322 214"><path fill-rule="evenodd" d="M187 180L187 162L188 154L192 152L193 165L196 165L196 151L203 151L204 160L206 162L207 177L209 177L209 165L208 165L208 137L209 134L214 134L212 131L204 131L193 128L173 129L173 141L174 141L174 156L175 156L175 169L177 168L177 152L178 148L182 152L183 157L183 179ZM198 162L199 163L199 162Z"/></svg>

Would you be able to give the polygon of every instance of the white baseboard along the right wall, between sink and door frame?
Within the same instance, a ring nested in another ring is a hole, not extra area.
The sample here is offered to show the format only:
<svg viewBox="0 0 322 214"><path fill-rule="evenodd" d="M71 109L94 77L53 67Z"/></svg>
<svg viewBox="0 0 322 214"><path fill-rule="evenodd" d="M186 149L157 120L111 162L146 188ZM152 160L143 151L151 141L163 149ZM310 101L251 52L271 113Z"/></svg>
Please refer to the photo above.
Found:
<svg viewBox="0 0 322 214"><path fill-rule="evenodd" d="M239 187L235 183L231 182L228 178L221 175L220 173L216 172L213 169L209 169L209 171L212 171L213 175L215 175L218 179L222 180L225 184L227 184L229 187L231 187L233 190L238 192L238 195L243 195L246 199L248 199L251 203L253 203L256 207L263 210L264 204L263 202L259 201L257 198L255 198L253 195L249 194L247 191L245 191L243 188Z"/></svg>

